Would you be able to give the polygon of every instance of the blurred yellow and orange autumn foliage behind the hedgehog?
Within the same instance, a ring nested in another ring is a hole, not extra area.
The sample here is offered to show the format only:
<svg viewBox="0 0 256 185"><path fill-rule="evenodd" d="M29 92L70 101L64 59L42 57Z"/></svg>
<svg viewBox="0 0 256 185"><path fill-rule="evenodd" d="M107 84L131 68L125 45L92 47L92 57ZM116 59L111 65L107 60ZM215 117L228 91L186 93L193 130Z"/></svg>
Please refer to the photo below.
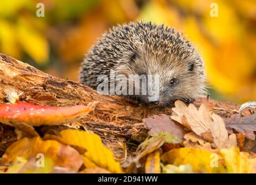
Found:
<svg viewBox="0 0 256 185"><path fill-rule="evenodd" d="M36 4L45 17L36 17ZM211 17L211 3L218 17ZM253 0L1 0L0 51L64 79L78 80L86 51L112 25L151 20L183 31L206 61L211 97L256 99Z"/></svg>

